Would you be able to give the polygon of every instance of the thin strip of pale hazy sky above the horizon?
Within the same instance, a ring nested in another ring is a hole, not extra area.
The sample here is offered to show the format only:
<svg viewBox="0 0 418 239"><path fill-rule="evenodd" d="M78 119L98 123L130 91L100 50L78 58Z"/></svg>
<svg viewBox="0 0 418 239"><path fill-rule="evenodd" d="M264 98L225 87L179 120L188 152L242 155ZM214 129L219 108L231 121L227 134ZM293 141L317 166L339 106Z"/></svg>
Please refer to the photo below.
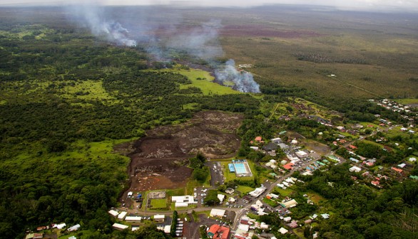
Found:
<svg viewBox="0 0 418 239"><path fill-rule="evenodd" d="M103 5L186 5L186 6L259 6L263 4L310 4L335 6L338 9L418 11L418 0L0 0L0 5L62 5L81 2Z"/></svg>

